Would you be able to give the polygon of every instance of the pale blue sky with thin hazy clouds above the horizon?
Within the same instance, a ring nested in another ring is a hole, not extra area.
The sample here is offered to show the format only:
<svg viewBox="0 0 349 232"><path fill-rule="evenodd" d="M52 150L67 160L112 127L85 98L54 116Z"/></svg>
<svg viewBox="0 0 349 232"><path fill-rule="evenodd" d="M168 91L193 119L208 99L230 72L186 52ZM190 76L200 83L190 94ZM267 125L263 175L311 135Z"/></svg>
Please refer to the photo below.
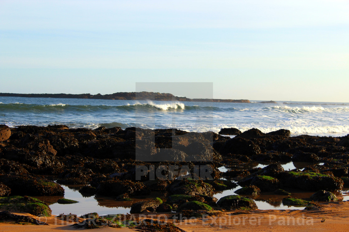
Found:
<svg viewBox="0 0 349 232"><path fill-rule="evenodd" d="M0 92L209 82L214 98L349 102L348 12L348 0L0 0Z"/></svg>

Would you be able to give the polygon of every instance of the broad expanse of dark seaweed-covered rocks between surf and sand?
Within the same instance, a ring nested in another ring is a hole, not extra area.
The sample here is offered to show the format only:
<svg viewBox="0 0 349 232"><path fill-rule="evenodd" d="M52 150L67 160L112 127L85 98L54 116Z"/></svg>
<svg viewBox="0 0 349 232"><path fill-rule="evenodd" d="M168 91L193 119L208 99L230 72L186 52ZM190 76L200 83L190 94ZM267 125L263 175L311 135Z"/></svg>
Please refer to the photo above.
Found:
<svg viewBox="0 0 349 232"><path fill-rule="evenodd" d="M303 205L310 210L320 208L321 202L336 201L339 191L349 186L349 135L291 137L288 130L264 134L258 129L242 133L235 128L222 129L220 134L134 127L91 130L64 125L1 125L0 211L49 215L51 211L45 202L27 196L62 196L64 189L60 184L80 185L83 195L109 196L117 201L158 192L165 201L155 198L137 202L131 212L187 216L255 210L253 199L260 193L284 195L284 204ZM137 151L164 161L136 160ZM193 161L193 157L203 161ZM271 164L251 168L253 161ZM288 161L309 165L303 170L284 170L280 162ZM150 171L143 173L141 179L136 178L137 166L161 165L188 167L189 171L185 178L170 169L164 170L165 175L174 179L151 179ZM203 165L212 168L213 179L202 179L201 173L195 173L195 167ZM222 166L228 171L221 172L218 168ZM237 185L242 187L236 191L239 195L213 197L214 191ZM314 194L309 199L297 199L292 198L294 191ZM32 204L36 205L35 211Z"/></svg>

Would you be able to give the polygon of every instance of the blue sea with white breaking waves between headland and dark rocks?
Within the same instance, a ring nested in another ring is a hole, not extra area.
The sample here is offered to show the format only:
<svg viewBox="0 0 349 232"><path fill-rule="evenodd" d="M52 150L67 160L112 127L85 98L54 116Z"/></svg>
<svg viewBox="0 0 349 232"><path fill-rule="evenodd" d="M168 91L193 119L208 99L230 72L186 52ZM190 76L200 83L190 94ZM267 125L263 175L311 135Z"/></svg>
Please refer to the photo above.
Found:
<svg viewBox="0 0 349 232"><path fill-rule="evenodd" d="M349 103L121 101L72 98L0 97L0 124L70 128L99 126L177 128L214 131L235 127L267 133L288 129L292 135L344 136L349 133Z"/></svg>

